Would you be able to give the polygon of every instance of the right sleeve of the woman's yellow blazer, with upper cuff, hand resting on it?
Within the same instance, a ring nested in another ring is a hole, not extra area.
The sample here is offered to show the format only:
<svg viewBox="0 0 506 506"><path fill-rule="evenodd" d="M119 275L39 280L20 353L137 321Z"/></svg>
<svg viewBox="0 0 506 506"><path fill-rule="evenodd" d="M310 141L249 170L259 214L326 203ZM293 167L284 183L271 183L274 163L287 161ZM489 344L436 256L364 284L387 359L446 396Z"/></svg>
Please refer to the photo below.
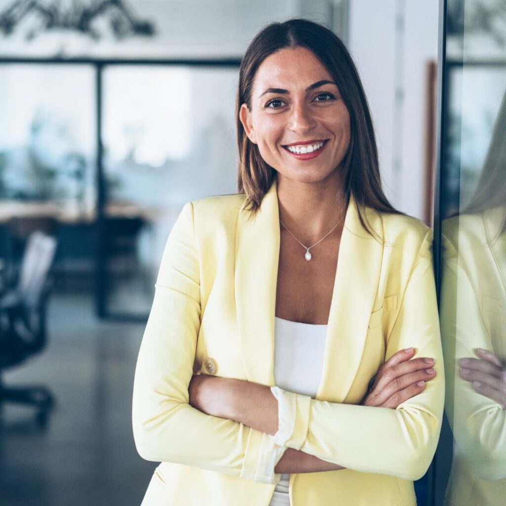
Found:
<svg viewBox="0 0 506 506"><path fill-rule="evenodd" d="M278 445L302 450L355 471L417 480L427 471L441 430L444 368L432 260L432 229L418 251L386 358L408 347L433 357L438 372L420 394L396 409L333 403L287 392L278 399Z"/></svg>

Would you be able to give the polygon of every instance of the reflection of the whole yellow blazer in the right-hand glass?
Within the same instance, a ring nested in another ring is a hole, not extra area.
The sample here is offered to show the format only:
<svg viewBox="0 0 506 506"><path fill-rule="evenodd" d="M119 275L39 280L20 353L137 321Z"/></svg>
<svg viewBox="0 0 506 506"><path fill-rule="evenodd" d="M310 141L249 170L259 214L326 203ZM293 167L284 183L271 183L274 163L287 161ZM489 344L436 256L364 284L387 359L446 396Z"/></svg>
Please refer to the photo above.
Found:
<svg viewBox="0 0 506 506"><path fill-rule="evenodd" d="M506 361L506 235L504 209L443 222L441 333L446 411L456 440L445 504L503 504L506 495L506 411L458 375L457 360L475 348Z"/></svg>

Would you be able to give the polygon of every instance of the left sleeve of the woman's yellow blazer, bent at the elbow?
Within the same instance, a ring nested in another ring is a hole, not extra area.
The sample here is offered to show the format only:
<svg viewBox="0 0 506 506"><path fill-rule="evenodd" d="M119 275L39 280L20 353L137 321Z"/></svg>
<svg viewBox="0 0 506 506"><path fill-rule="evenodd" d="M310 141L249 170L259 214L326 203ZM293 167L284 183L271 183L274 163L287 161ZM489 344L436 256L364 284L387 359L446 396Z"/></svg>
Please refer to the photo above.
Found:
<svg viewBox="0 0 506 506"><path fill-rule="evenodd" d="M139 350L133 389L133 433L139 454L261 483L278 483L285 447L261 431L192 407L200 328L200 269L193 203L168 236Z"/></svg>

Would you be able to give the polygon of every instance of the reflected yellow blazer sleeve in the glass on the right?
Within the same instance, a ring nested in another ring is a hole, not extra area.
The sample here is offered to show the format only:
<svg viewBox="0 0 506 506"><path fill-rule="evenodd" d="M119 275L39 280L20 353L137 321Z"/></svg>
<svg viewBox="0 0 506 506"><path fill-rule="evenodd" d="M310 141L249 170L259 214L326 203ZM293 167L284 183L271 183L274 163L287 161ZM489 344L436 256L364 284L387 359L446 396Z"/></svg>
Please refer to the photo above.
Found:
<svg viewBox="0 0 506 506"><path fill-rule="evenodd" d="M483 480L499 480L506 478L506 411L462 379L457 362L460 358L476 358L474 349L478 347L494 352L492 336L485 327L479 293L468 269L450 241L444 236L443 240L441 332L446 361L446 413L457 445L473 473Z"/></svg>

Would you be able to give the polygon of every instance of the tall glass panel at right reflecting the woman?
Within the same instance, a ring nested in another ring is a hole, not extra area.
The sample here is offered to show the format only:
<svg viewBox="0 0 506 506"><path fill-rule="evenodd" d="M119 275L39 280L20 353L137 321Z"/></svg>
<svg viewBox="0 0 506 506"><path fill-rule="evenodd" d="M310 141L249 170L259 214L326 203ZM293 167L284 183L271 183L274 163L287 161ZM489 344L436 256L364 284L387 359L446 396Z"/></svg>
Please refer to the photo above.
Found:
<svg viewBox="0 0 506 506"><path fill-rule="evenodd" d="M454 0L447 14L441 332L454 441L444 503L504 504L506 10Z"/></svg>

